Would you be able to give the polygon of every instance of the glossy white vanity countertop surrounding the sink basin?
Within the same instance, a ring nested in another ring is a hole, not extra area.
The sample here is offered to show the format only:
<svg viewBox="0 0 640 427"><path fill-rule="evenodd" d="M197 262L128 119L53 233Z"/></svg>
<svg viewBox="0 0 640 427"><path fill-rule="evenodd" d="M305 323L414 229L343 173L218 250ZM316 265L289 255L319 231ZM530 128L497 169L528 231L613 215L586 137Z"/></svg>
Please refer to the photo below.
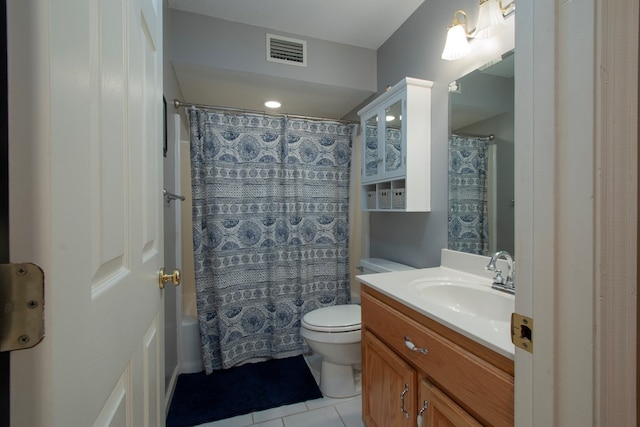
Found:
<svg viewBox="0 0 640 427"><path fill-rule="evenodd" d="M451 307L430 302L416 290L415 282L424 279L446 279L473 282L483 291L495 293L499 298L514 301L513 295L491 289L492 280L487 275L474 275L449 267L422 268L390 273L363 274L356 278L365 285L393 298L411 309L447 326L448 328L513 360L515 348L511 343L510 318L489 320L456 311ZM507 300L507 303L509 301ZM491 311L491 307L482 307Z"/></svg>

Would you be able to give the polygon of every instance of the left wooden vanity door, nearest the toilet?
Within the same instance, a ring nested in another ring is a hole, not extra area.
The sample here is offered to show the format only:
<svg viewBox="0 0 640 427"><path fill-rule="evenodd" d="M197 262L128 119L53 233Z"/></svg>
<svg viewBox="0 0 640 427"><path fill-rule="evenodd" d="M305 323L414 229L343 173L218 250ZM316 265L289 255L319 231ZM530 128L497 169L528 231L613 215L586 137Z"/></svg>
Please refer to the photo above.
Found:
<svg viewBox="0 0 640 427"><path fill-rule="evenodd" d="M368 427L415 425L415 370L371 332L362 338L362 419Z"/></svg>

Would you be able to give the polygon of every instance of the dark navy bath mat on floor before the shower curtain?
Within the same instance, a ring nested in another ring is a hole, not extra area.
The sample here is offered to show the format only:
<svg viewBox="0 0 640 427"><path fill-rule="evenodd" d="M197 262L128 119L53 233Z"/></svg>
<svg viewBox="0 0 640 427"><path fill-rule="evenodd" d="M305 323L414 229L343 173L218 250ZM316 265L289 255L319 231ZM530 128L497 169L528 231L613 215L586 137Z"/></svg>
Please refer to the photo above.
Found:
<svg viewBox="0 0 640 427"><path fill-rule="evenodd" d="M302 355L248 363L211 375L182 374L167 427L192 427L321 397Z"/></svg>

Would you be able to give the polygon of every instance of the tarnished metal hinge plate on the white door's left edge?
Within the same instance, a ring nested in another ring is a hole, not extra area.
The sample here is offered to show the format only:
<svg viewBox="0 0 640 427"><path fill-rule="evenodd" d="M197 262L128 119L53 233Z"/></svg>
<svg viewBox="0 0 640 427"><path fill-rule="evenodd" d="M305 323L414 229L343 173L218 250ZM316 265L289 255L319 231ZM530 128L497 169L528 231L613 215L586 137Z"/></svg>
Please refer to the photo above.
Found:
<svg viewBox="0 0 640 427"><path fill-rule="evenodd" d="M0 351L34 347L44 337L44 272L0 264Z"/></svg>

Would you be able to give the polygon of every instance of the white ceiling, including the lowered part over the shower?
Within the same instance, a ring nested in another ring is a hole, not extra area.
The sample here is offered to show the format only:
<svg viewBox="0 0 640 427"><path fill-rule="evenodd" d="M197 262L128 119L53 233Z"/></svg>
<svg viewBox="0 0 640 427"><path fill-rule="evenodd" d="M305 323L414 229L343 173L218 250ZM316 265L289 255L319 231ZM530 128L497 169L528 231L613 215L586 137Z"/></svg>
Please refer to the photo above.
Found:
<svg viewBox="0 0 640 427"><path fill-rule="evenodd" d="M186 12L278 32L377 49L424 0L168 0ZM339 119L371 94L362 90L174 63L184 101L264 110L275 97L283 113Z"/></svg>

